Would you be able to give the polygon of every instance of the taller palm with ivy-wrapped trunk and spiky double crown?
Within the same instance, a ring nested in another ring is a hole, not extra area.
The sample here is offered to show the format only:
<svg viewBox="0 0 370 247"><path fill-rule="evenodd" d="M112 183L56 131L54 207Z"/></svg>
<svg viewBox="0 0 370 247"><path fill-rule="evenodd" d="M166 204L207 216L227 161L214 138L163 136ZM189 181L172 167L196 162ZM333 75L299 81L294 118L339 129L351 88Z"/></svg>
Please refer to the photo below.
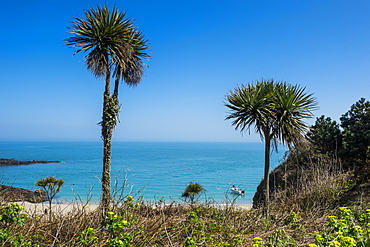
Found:
<svg viewBox="0 0 370 247"><path fill-rule="evenodd" d="M104 142L102 174L102 206L106 211L110 203L110 156L111 138L118 121L120 105L118 101L119 82L129 86L140 83L145 63L148 59L147 40L142 32L133 26L133 21L126 18L126 13L119 12L114 6L110 11L107 5L97 6L85 11L85 18L75 18L70 28L71 37L65 39L68 46L77 48L85 55L85 64L97 78L105 78L103 100L102 139ZM111 94L111 78L114 78L114 90Z"/></svg>

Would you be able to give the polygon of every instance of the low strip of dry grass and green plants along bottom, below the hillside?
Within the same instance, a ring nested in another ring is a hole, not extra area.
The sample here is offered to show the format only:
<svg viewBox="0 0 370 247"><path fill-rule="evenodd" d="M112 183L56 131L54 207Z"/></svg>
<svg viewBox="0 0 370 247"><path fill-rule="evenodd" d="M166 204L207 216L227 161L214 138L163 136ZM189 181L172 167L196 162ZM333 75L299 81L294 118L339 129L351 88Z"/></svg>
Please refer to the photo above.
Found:
<svg viewBox="0 0 370 247"><path fill-rule="evenodd" d="M278 205L275 205L278 206ZM217 205L145 205L129 196L107 213L26 214L9 204L0 211L2 246L369 246L370 205L305 212Z"/></svg>

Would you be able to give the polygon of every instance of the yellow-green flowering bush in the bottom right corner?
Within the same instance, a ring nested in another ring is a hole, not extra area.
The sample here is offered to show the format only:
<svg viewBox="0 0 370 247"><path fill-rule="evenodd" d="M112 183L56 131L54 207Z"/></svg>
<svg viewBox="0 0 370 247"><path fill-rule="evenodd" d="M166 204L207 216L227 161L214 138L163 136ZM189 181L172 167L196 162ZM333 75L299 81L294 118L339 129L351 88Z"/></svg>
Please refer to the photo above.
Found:
<svg viewBox="0 0 370 247"><path fill-rule="evenodd" d="M370 209L355 217L351 209L340 207L338 216L329 216L328 230L316 233L315 243L310 247L356 247L370 246Z"/></svg>

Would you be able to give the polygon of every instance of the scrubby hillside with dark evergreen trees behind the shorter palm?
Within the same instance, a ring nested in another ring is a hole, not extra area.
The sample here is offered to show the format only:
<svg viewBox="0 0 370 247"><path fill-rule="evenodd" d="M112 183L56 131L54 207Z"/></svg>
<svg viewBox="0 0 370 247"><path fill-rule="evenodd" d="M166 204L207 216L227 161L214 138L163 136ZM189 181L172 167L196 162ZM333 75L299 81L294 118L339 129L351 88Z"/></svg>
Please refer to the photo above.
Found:
<svg viewBox="0 0 370 247"><path fill-rule="evenodd" d="M370 102L360 99L340 121L317 118L306 139L271 172L273 203L309 211L370 201ZM254 207L264 200L262 185Z"/></svg>

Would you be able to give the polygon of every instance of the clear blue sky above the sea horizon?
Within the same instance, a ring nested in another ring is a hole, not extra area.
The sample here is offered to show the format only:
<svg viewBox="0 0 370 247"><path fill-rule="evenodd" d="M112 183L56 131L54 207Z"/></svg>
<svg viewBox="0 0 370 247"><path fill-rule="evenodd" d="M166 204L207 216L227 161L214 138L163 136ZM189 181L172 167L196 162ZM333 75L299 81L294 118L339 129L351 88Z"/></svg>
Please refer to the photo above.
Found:
<svg viewBox="0 0 370 247"><path fill-rule="evenodd" d="M3 1L0 141L100 140L104 81L64 39L104 3L136 20L152 54L142 83L121 85L114 140L259 141L224 120L224 100L261 78L305 86L316 117L370 100L368 0Z"/></svg>

